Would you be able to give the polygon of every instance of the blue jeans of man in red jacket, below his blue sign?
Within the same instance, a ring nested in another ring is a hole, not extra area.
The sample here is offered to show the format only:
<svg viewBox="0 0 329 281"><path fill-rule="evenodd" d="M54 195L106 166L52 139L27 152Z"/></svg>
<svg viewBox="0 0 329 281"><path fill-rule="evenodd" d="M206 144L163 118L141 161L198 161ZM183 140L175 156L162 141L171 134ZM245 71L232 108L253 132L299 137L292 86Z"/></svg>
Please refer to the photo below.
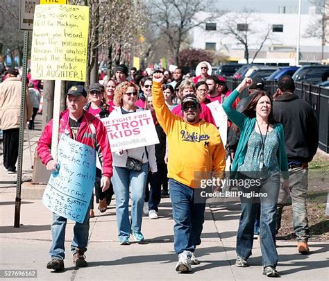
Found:
<svg viewBox="0 0 329 281"><path fill-rule="evenodd" d="M87 250L88 237L89 237L89 209L85 215L83 223L74 225L74 237L71 242L71 252L76 253L76 248ZM65 228L67 219L53 213L53 223L51 224L52 244L49 250L51 257L65 259Z"/></svg>

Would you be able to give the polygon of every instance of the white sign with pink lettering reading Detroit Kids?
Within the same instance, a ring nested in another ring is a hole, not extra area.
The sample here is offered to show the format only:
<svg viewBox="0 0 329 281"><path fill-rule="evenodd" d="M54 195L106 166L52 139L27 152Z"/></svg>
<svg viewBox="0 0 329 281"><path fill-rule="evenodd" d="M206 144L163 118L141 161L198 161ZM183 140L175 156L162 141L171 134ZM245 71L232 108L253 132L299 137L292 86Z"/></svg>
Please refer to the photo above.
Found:
<svg viewBox="0 0 329 281"><path fill-rule="evenodd" d="M120 116L110 114L109 117L102 118L101 121L108 131L111 151L113 152L119 151L120 148L125 150L159 143L149 110Z"/></svg>

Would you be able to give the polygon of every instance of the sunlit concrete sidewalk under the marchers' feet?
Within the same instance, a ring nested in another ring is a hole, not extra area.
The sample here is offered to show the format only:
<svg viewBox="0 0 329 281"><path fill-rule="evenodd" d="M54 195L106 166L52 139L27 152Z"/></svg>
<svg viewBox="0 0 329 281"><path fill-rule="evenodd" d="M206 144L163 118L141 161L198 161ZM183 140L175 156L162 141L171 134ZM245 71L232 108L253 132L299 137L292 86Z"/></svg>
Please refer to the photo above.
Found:
<svg viewBox="0 0 329 281"><path fill-rule="evenodd" d="M30 131L31 146L40 132ZM24 146L24 177L31 178L28 144ZM89 266L75 269L69 253L74 223L66 233L66 270L52 273L46 269L51 244L51 212L40 200L22 200L21 227L13 228L15 179L0 160L0 269L35 269L37 280L267 280L262 275L260 244L255 240L248 268L235 266L235 237L239 223L239 204L217 203L205 211L202 244L196 250L201 264L192 273L174 271L177 256L173 250L173 226L169 198L160 204L160 219L144 217L142 232L146 244L119 246L115 205L103 214L96 210L90 220L90 241L86 252ZM294 241L278 241L278 271L283 280L328 280L329 243L311 243L312 253L296 252Z"/></svg>

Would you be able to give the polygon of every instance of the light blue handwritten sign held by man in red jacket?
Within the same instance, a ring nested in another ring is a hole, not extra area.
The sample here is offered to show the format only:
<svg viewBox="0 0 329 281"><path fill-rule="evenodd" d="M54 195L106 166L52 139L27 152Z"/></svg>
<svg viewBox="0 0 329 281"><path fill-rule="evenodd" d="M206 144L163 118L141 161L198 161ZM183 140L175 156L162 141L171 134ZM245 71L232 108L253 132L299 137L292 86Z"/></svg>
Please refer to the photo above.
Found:
<svg viewBox="0 0 329 281"><path fill-rule="evenodd" d="M58 164L58 173L51 174L42 203L55 214L83 223L95 182L96 151L74 139L61 137Z"/></svg>

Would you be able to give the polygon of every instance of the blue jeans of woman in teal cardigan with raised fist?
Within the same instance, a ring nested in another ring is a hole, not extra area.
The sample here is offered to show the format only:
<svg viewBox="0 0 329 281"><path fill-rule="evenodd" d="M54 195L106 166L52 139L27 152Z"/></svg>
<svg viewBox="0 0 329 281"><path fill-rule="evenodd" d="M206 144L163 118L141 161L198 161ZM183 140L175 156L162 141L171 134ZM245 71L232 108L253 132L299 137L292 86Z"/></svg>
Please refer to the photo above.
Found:
<svg viewBox="0 0 329 281"><path fill-rule="evenodd" d="M260 207L260 249L262 251L262 265L274 266L278 263L276 251L276 207L280 188L279 176L272 176L262 180L259 192L268 194L260 198L260 203L254 200L241 201L242 213L237 230L237 255L243 259L251 256L253 248L253 230L258 208ZM260 205L259 205L260 204Z"/></svg>

